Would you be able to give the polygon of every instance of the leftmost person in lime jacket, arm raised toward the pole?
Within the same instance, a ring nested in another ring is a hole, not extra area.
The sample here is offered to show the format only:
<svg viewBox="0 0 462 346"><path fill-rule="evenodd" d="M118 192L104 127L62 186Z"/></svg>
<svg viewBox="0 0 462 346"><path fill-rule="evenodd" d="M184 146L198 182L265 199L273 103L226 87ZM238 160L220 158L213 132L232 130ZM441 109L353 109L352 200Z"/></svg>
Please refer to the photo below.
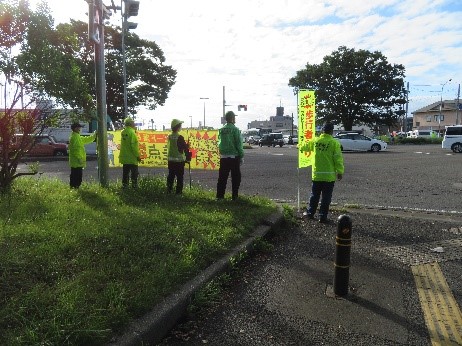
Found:
<svg viewBox="0 0 462 346"><path fill-rule="evenodd" d="M69 185L73 189L78 189L82 184L83 169L87 166L87 152L85 144L93 142L96 138L96 131L90 136L80 136L82 125L73 123L71 125L71 135L69 137L69 166L71 175Z"/></svg>

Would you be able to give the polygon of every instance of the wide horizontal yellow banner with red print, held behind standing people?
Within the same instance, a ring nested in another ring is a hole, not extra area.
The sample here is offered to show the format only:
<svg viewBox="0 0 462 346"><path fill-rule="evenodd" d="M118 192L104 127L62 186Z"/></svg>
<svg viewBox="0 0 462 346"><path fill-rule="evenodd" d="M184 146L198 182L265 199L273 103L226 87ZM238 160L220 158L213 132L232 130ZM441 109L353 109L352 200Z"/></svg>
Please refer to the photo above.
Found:
<svg viewBox="0 0 462 346"><path fill-rule="evenodd" d="M121 166L119 163L121 131L108 131L109 166ZM140 146L141 162L144 167L168 166L167 142L168 131L136 131ZM220 152L218 150L218 131L182 130L180 131L189 144L192 153L191 169L218 170L220 167Z"/></svg>

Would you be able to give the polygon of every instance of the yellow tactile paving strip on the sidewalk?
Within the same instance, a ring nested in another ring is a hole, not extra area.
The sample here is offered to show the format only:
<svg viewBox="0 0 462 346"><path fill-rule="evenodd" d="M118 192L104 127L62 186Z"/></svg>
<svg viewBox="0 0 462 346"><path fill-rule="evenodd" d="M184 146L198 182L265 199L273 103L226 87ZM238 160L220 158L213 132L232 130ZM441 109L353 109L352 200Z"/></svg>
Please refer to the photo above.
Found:
<svg viewBox="0 0 462 346"><path fill-rule="evenodd" d="M462 345L462 313L439 264L411 268L432 345Z"/></svg>

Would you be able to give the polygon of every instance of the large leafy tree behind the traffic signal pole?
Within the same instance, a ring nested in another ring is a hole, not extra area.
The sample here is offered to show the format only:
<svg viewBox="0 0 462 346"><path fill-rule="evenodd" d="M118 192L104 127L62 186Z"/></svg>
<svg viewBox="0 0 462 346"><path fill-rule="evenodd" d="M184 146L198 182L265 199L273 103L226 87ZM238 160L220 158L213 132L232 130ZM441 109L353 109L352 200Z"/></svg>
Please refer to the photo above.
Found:
<svg viewBox="0 0 462 346"><path fill-rule="evenodd" d="M106 104L107 112L112 120L124 118L124 92L122 74L122 34L119 27L105 27L105 66L106 66ZM95 65L94 46L87 40L87 23L71 20L70 23L60 24L56 30L47 32L47 44L65 53L66 60L61 63L64 71L58 69L54 72L58 81L56 84L48 83L46 91L52 96L60 96L67 100L70 105L81 107L88 105L86 90L91 95L96 95L95 89ZM37 64L43 56L43 48L40 42L29 44L30 49L22 55L23 70L33 76L37 71ZM133 33L126 33L126 69L127 69L127 105L128 114L135 114L136 108L146 106L155 109L163 105L168 93L175 83L176 71L165 65L165 57L162 50L155 42L143 40ZM37 56L37 58L35 58ZM30 61L34 61L30 63ZM29 62L29 63L27 63ZM76 66L74 66L74 64ZM79 83L70 84L66 81L69 66L74 67L73 72L79 75ZM45 69L44 69L45 70ZM46 78L50 73L43 71ZM64 75L63 75L64 74ZM82 86L81 89L78 86ZM80 92L75 91L80 90ZM65 95L67 97L65 97ZM88 111L87 111L88 113Z"/></svg>

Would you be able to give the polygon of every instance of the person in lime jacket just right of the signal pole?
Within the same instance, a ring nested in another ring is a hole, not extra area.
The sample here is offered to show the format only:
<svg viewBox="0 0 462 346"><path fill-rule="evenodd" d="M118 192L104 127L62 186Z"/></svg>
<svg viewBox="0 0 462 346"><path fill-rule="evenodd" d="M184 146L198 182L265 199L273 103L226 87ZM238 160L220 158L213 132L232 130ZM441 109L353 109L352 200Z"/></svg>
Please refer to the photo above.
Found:
<svg viewBox="0 0 462 346"><path fill-rule="evenodd" d="M120 139L119 162L122 164L122 187L127 187L131 180L132 187L138 186L138 163L141 161L135 121L125 118L125 128Z"/></svg>

